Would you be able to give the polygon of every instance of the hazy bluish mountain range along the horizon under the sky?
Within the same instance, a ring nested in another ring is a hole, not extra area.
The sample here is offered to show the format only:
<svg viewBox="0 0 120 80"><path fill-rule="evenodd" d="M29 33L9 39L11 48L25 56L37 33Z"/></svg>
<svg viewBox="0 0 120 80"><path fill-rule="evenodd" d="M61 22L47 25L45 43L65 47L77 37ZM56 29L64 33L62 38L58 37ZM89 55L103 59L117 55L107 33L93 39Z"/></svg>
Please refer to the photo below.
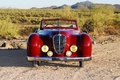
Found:
<svg viewBox="0 0 120 80"><path fill-rule="evenodd" d="M116 9L120 9L120 4L96 4L96 3L92 3L90 1L84 1L84 2L77 2L76 4L73 4L71 6L64 4L62 6L50 6L50 7L43 7L43 8L36 8L36 7L32 7L31 9L64 9L64 8L71 8L71 9L91 9L93 7L93 5L109 5L109 6L113 6Z"/></svg>

